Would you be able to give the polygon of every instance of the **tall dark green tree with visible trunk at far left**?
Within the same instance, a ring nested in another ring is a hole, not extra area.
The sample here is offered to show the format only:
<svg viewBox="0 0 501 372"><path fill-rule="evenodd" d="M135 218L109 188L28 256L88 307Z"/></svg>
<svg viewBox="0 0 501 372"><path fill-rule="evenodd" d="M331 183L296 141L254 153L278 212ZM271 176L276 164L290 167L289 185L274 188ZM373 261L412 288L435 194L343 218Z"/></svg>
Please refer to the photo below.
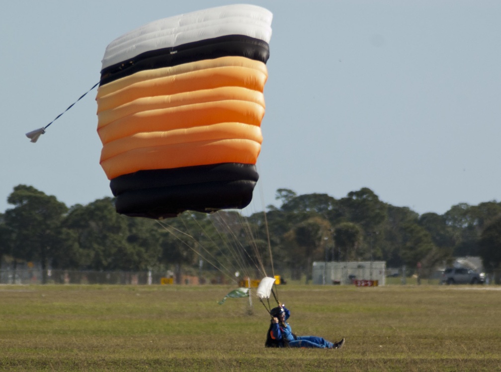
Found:
<svg viewBox="0 0 501 372"><path fill-rule="evenodd" d="M14 188L7 202L14 205L5 213L5 223L13 232L11 253L17 259L39 260L46 283L49 261L62 248L61 221L68 208L56 197L23 184Z"/></svg>

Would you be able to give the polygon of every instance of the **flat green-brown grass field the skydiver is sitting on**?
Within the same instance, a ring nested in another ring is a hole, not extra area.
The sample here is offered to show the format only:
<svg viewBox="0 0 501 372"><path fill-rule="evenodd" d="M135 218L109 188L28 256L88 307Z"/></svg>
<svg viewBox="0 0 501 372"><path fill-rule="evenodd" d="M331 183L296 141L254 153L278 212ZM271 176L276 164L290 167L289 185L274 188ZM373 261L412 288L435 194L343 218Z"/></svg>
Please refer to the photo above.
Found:
<svg viewBox="0 0 501 372"><path fill-rule="evenodd" d="M0 369L501 370L501 289L278 288L302 335L341 350L267 349L269 315L228 286L0 286Z"/></svg>

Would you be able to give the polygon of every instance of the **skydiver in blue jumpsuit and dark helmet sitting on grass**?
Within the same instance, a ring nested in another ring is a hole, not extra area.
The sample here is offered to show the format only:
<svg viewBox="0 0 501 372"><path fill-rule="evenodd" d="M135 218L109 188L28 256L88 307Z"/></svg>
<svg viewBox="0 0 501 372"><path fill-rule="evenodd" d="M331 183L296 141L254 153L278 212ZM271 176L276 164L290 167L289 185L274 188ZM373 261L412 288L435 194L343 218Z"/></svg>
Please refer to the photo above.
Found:
<svg viewBox="0 0 501 372"><path fill-rule="evenodd" d="M328 349L340 349L345 339L338 342L330 342L317 336L297 336L292 332L291 326L286 322L291 312L285 305L274 307L270 311L273 317L266 336L266 347L319 347Z"/></svg>

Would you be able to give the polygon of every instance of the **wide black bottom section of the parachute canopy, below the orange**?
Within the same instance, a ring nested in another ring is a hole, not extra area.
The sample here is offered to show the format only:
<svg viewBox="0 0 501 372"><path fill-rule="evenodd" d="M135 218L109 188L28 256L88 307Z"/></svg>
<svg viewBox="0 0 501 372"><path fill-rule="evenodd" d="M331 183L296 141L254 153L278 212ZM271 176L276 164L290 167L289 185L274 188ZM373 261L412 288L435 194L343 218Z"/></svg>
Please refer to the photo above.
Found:
<svg viewBox="0 0 501 372"><path fill-rule="evenodd" d="M161 219L184 211L245 208L258 178L255 165L224 163L140 170L113 178L110 188L118 213Z"/></svg>

